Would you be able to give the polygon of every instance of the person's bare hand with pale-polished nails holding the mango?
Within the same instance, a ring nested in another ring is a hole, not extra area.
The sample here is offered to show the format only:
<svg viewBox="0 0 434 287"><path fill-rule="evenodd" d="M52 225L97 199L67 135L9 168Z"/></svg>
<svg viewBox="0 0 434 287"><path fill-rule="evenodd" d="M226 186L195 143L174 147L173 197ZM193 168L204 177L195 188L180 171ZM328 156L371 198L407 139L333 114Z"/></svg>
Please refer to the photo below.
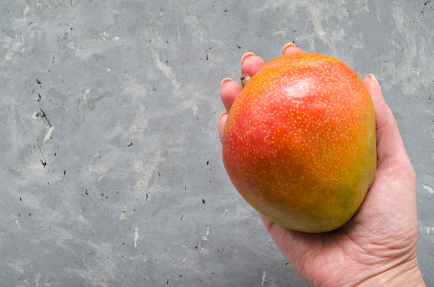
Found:
<svg viewBox="0 0 434 287"><path fill-rule="evenodd" d="M283 53L302 50L290 43ZM253 53L245 53L241 63L241 74L249 76L265 64ZM311 286L425 286L417 263L415 170L379 82L372 74L363 81L374 102L377 170L357 213L343 227L322 234L295 232L260 216L285 259ZM220 139L241 89L230 78L222 80L226 112L220 114Z"/></svg>

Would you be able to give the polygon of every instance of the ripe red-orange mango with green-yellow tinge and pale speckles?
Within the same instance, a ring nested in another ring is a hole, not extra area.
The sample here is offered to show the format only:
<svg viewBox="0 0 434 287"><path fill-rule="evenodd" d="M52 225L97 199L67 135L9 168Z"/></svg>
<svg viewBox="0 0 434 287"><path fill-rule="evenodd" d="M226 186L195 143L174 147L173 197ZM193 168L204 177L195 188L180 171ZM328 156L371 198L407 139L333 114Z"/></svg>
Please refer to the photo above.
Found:
<svg viewBox="0 0 434 287"><path fill-rule="evenodd" d="M328 232L361 206L376 171L372 98L346 64L295 53L266 63L227 116L223 162L254 209L288 229Z"/></svg>

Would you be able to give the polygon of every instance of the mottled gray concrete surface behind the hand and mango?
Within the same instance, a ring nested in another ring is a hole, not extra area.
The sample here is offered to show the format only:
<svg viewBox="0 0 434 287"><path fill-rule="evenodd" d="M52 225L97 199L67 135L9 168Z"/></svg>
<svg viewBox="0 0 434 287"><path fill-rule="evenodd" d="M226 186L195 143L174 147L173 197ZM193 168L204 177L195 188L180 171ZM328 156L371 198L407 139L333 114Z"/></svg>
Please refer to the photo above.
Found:
<svg viewBox="0 0 434 287"><path fill-rule="evenodd" d="M3 1L0 286L306 286L230 184L216 128L241 55L290 41L379 78L433 286L433 6Z"/></svg>

